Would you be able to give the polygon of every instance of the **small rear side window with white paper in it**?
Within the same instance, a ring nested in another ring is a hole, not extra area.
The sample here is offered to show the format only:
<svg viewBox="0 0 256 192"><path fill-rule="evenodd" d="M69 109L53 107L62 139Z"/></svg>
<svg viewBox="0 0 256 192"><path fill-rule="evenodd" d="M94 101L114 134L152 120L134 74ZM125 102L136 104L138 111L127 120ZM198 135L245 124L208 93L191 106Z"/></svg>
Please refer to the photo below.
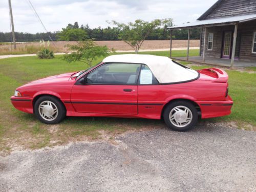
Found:
<svg viewBox="0 0 256 192"><path fill-rule="evenodd" d="M150 68L146 65L142 65L140 70L140 76L138 80L139 84L159 84L158 80L151 72Z"/></svg>

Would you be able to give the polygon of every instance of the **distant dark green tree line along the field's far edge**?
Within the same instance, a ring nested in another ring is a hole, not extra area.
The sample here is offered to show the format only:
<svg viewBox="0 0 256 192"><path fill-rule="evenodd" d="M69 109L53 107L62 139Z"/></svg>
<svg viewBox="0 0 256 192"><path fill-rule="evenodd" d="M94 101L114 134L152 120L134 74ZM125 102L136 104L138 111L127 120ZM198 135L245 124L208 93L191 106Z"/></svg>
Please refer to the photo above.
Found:
<svg viewBox="0 0 256 192"><path fill-rule="evenodd" d="M168 19L166 19L168 20ZM169 19L169 22L166 21L166 24L162 27L156 27L153 29L153 31L146 37L145 40L164 40L164 39L169 39L170 38L170 31L167 29L167 27L172 26L172 19ZM64 30L68 29L77 29L76 27L78 26L78 23L75 22L75 24L68 24ZM79 27L79 26L78 26ZM120 38L120 31L121 29L118 27L106 27L106 28L94 28L91 29L88 25L81 25L80 29L85 31L87 33L88 38L92 40L122 40ZM82 32L81 35L83 38L78 38L77 35L80 35L76 33L76 31L70 31L73 32L73 34L68 34L69 37L66 39L83 39L87 38L86 35ZM75 34L74 34L75 33ZM49 38L49 35L51 36L52 40L57 40L58 39L63 39L65 40L65 35L63 34L63 29L61 32L48 32L48 33L36 33L36 34L31 34L31 33L23 33L23 32L15 32L15 37L17 41L39 41L41 39L44 40L51 40ZM64 37L60 38L60 36L63 35ZM72 38L71 38L72 37ZM187 39L187 29L180 29L180 30L173 30L173 39ZM195 28L190 30L190 39L200 39L200 28ZM8 42L12 41L12 34L10 32L0 32L0 42Z"/></svg>

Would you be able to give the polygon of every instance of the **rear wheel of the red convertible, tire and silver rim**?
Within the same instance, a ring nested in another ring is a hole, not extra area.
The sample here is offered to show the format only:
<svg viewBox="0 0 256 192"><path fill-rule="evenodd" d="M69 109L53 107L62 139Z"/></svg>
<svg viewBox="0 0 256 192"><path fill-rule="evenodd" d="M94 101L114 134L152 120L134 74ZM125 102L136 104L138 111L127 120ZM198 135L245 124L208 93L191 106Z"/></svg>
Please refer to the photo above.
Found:
<svg viewBox="0 0 256 192"><path fill-rule="evenodd" d="M168 104L163 113L164 121L174 131L188 131L198 120L196 107L188 101Z"/></svg>

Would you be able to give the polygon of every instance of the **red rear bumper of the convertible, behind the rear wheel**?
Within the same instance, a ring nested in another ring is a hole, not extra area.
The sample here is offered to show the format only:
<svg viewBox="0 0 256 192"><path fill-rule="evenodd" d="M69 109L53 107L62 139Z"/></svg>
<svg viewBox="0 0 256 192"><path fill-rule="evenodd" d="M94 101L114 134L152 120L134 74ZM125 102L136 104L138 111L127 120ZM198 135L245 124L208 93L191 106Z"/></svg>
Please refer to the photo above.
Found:
<svg viewBox="0 0 256 192"><path fill-rule="evenodd" d="M197 101L201 109L201 118L212 118L229 115L233 105L230 96L225 101Z"/></svg>

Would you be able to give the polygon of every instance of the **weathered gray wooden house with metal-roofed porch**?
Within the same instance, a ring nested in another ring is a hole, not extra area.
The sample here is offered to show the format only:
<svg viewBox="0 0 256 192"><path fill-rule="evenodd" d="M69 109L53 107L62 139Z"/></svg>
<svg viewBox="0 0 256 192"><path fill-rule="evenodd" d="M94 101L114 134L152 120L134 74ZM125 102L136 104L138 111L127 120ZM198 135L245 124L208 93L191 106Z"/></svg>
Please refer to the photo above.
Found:
<svg viewBox="0 0 256 192"><path fill-rule="evenodd" d="M200 57L188 57L191 28L201 28ZM185 60L223 66L256 66L256 0L219 0L195 22L170 27L188 29ZM170 43L172 56L172 35Z"/></svg>

